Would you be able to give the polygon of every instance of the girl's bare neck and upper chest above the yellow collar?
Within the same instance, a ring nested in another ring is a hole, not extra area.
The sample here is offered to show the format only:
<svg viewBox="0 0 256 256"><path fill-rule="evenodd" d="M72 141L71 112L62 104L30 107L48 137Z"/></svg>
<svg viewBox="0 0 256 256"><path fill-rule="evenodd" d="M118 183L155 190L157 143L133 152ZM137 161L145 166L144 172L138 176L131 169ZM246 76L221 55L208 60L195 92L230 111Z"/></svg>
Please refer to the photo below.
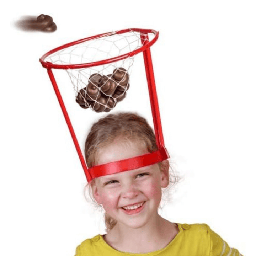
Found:
<svg viewBox="0 0 256 256"><path fill-rule="evenodd" d="M157 214L145 226L136 229L117 223L104 239L119 251L146 253L164 248L177 233L175 224Z"/></svg>

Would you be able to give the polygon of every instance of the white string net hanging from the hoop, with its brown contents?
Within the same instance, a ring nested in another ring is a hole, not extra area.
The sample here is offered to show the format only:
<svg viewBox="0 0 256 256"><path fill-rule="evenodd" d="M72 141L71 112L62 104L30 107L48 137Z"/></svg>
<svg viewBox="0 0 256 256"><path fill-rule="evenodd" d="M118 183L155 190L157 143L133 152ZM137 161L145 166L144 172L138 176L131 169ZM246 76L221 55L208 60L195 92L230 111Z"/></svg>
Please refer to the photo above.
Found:
<svg viewBox="0 0 256 256"><path fill-rule="evenodd" d="M49 55L53 64L92 63L127 54L142 46L141 32L111 32ZM134 56L90 68L67 69L80 107L109 112L126 96Z"/></svg>

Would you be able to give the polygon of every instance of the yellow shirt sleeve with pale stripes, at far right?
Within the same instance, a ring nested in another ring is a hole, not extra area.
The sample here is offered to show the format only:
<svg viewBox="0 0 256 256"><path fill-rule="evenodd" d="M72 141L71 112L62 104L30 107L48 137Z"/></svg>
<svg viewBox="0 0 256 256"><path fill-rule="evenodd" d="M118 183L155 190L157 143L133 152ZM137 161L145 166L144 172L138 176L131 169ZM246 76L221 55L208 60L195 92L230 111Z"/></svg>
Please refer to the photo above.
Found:
<svg viewBox="0 0 256 256"><path fill-rule="evenodd" d="M218 234L212 231L209 226L208 235L210 236L210 255L211 256L243 256L235 248L230 248Z"/></svg>

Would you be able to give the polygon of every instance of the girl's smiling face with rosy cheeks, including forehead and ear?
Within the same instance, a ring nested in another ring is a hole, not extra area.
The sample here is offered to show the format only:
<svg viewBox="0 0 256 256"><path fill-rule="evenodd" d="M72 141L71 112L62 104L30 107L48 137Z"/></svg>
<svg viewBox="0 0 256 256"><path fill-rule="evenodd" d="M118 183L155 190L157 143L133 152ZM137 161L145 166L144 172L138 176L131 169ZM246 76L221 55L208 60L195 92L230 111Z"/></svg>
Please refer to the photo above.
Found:
<svg viewBox="0 0 256 256"><path fill-rule="evenodd" d="M114 141L101 148L97 164L149 153L142 143ZM96 201L118 223L139 228L154 221L161 201L161 187L168 185L169 162L99 177L93 185Z"/></svg>

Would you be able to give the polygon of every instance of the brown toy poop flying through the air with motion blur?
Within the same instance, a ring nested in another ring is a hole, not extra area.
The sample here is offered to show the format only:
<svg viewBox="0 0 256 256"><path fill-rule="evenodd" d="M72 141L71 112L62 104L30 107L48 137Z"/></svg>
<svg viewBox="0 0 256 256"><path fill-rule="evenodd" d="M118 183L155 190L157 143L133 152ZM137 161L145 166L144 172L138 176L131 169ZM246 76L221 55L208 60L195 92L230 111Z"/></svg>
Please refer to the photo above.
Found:
<svg viewBox="0 0 256 256"><path fill-rule="evenodd" d="M25 16L16 22L16 27L26 31L54 32L57 30L53 18L49 15L41 14L38 17Z"/></svg>

